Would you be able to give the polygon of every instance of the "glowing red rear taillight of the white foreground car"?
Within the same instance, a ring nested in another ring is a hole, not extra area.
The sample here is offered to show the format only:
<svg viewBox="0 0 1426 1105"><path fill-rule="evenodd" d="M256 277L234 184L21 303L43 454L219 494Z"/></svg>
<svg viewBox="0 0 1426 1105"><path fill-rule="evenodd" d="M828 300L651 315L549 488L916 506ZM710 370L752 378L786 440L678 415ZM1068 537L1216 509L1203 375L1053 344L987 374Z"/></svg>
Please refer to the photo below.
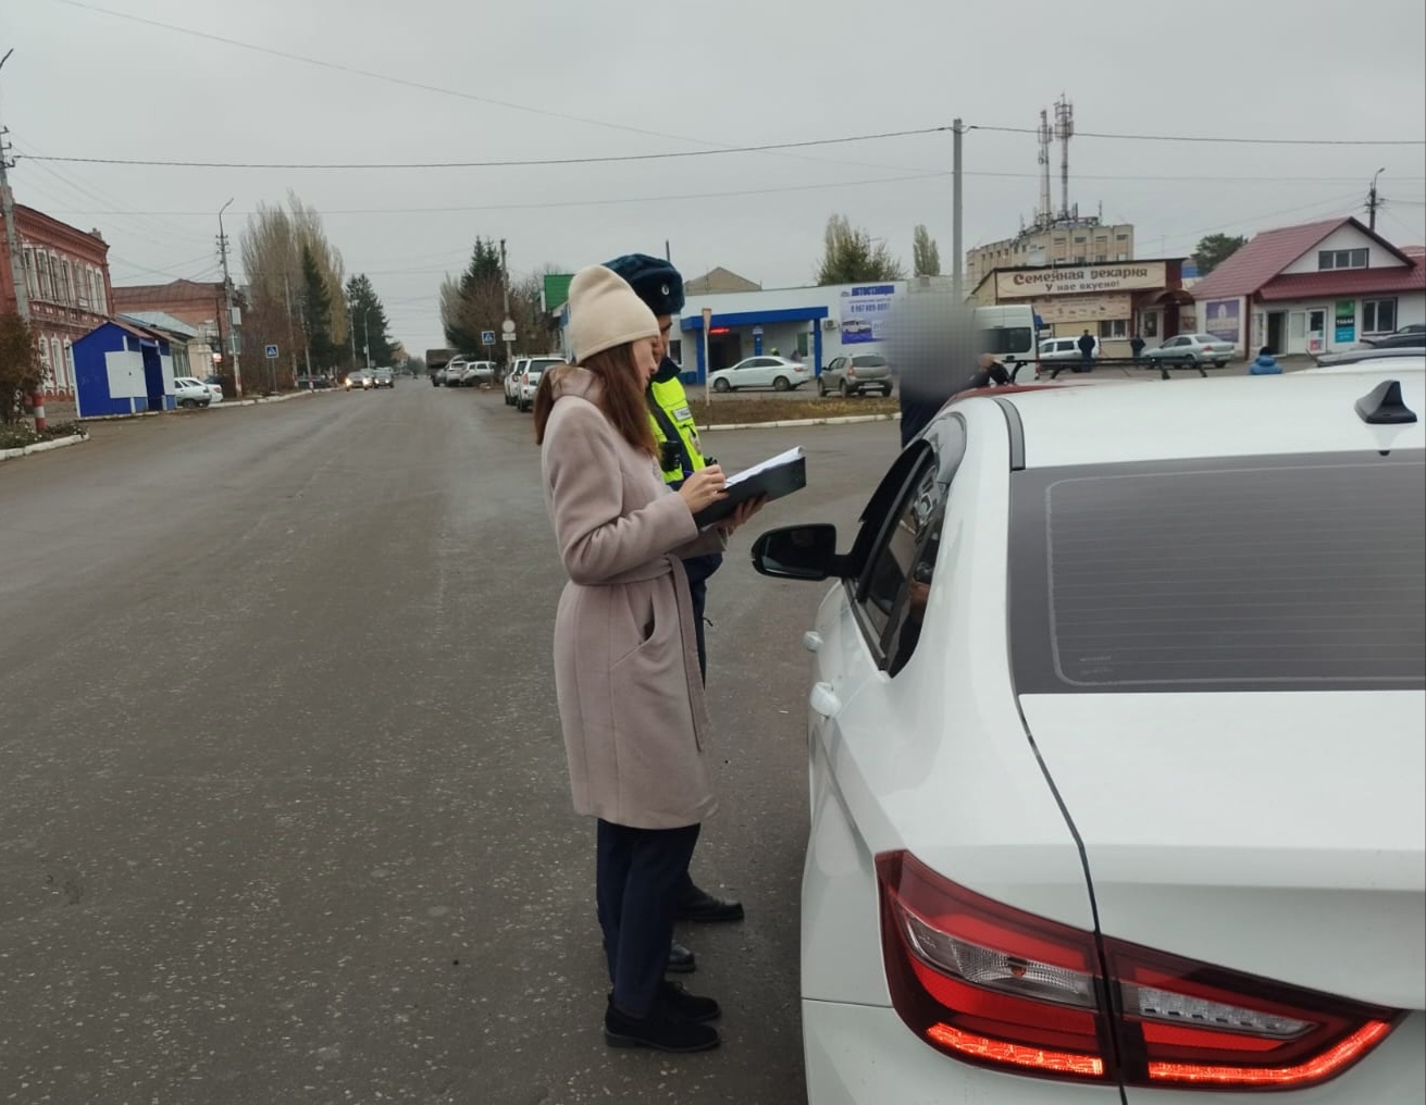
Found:
<svg viewBox="0 0 1426 1105"><path fill-rule="evenodd" d="M1301 1089L1403 1014L1225 971L1011 908L910 853L877 857L891 1004L927 1044L1042 1078Z"/></svg>

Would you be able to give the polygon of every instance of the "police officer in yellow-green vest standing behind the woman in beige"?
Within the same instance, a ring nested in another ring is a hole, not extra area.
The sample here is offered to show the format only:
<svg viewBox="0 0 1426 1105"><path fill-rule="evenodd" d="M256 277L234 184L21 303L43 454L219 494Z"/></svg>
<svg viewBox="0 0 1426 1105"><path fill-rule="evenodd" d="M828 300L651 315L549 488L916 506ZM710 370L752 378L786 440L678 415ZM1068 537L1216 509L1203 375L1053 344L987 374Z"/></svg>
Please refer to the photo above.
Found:
<svg viewBox="0 0 1426 1105"><path fill-rule="evenodd" d="M623 277L635 294L643 299L659 319L660 362L659 371L649 382L645 399L649 405L649 421L653 436L659 442L659 466L670 488L677 488L700 468L713 463L703 455L697 423L689 406L689 396L679 379L679 365L669 356L669 332L673 315L683 309L683 277L667 261L647 254L626 254L606 262ZM694 556L683 562L689 576L689 590L693 595L693 622L699 643L699 672L707 682L707 647L703 639L703 609L707 603L707 579L723 563L720 555ZM679 894L676 918L680 921L740 921L743 904L732 898L719 898L700 890L693 878L684 875ZM677 941L669 955L669 970L692 971L693 952Z"/></svg>

